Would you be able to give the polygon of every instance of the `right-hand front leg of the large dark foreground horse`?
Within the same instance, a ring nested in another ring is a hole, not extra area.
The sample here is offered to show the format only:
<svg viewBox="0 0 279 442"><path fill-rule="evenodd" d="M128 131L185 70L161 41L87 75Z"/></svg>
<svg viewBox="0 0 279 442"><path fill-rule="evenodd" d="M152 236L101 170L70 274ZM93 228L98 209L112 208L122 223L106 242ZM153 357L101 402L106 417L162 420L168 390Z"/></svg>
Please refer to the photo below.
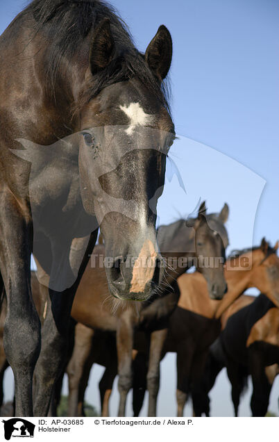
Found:
<svg viewBox="0 0 279 442"><path fill-rule="evenodd" d="M87 249L74 284L61 292L49 289L51 303L47 305L47 316L42 327L42 350L35 367L36 391L34 411L36 416L47 416L53 387L67 359L71 307L92 248L96 243L96 236L97 232L94 231L89 242L87 238ZM65 245L53 242L52 247L55 263L55 256L59 256L61 251L62 256L65 256Z"/></svg>

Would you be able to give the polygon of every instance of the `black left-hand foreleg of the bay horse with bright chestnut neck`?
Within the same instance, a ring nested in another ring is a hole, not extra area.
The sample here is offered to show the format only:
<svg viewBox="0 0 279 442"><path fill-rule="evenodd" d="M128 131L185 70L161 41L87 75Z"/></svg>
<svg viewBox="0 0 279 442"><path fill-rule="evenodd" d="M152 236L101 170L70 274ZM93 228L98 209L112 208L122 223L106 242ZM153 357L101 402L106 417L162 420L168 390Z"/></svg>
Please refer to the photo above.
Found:
<svg viewBox="0 0 279 442"><path fill-rule="evenodd" d="M183 411L187 402L189 393L189 377L192 364L191 344L180 343L177 351L176 369L177 369L177 388L176 388L176 402L177 402L177 416L183 417Z"/></svg>

